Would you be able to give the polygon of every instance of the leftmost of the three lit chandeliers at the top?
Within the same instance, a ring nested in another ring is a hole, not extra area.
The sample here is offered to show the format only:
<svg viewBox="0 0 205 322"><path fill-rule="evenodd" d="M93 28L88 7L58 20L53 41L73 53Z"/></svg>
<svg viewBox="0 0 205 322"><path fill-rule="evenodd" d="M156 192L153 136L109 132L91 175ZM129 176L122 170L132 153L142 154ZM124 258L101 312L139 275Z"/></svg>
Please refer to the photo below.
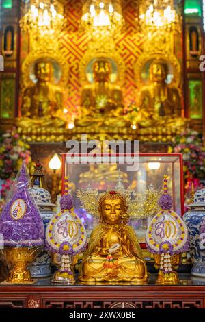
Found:
<svg viewBox="0 0 205 322"><path fill-rule="evenodd" d="M33 0L29 8L25 8L27 12L20 19L20 28L31 34L53 34L64 25L64 16L60 9L53 0Z"/></svg>

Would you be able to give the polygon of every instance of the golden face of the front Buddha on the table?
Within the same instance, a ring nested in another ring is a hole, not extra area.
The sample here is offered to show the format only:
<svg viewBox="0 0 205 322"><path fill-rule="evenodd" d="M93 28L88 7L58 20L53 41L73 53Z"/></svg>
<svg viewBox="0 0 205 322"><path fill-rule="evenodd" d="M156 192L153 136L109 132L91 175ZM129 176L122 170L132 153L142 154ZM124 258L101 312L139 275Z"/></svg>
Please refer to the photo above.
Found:
<svg viewBox="0 0 205 322"><path fill-rule="evenodd" d="M126 212L124 202L121 199L105 199L101 204L101 216L105 223L119 224L122 221L122 215Z"/></svg>

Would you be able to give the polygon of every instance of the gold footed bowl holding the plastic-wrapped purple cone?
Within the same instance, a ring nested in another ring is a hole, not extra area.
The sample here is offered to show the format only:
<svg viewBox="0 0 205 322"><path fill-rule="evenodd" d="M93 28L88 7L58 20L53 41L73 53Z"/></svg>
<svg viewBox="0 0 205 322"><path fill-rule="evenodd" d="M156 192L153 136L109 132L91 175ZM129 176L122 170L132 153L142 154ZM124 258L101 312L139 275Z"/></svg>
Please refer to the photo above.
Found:
<svg viewBox="0 0 205 322"><path fill-rule="evenodd" d="M41 247L5 247L3 254L10 267L6 282L15 284L32 282L28 266L36 259L40 249Z"/></svg>

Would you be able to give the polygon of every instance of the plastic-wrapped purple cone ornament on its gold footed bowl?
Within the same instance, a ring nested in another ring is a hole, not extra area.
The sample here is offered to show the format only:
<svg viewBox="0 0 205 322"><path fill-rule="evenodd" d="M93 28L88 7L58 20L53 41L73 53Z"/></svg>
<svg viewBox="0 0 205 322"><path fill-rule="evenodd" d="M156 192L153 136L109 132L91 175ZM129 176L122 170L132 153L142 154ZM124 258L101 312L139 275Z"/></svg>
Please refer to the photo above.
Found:
<svg viewBox="0 0 205 322"><path fill-rule="evenodd" d="M11 283L31 282L27 266L44 245L44 225L28 186L29 177L23 162L0 217L3 253L12 267L7 281Z"/></svg>

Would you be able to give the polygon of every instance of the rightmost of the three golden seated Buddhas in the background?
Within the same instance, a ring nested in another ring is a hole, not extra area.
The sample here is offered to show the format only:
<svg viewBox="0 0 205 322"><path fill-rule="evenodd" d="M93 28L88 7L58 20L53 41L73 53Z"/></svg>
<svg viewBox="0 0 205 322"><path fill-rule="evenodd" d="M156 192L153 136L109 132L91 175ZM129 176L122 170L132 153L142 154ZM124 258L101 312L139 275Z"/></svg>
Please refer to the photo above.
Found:
<svg viewBox="0 0 205 322"><path fill-rule="evenodd" d="M152 125L183 125L178 89L168 86L167 63L156 59L150 66L150 84L141 88L137 97L135 123L141 127Z"/></svg>

